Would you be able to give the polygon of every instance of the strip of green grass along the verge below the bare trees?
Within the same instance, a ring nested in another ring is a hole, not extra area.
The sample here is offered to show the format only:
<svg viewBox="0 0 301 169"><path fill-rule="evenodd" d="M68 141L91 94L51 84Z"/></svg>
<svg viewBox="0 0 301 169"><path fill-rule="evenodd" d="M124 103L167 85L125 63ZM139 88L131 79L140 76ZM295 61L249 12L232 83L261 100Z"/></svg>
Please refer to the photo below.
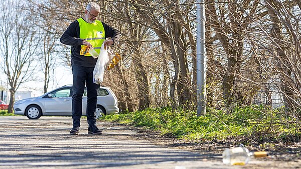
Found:
<svg viewBox="0 0 301 169"><path fill-rule="evenodd" d="M232 112L207 108L207 113L197 116L195 112L165 108L147 108L125 114L106 115L103 120L116 121L133 126L160 131L188 140L212 140L226 138L255 138L257 141L299 139L297 121L282 113L265 110L263 106L234 108Z"/></svg>

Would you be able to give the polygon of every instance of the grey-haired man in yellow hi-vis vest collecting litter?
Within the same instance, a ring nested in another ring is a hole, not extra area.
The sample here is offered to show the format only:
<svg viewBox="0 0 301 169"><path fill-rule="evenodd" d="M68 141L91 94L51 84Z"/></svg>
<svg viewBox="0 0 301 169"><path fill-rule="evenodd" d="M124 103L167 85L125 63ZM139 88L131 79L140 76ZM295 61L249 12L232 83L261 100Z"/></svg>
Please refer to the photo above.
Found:
<svg viewBox="0 0 301 169"><path fill-rule="evenodd" d="M95 2L90 2L85 10L85 15L73 21L61 37L61 42L71 47L71 65L73 74L72 84L72 118L73 128L71 135L78 135L80 117L82 115L82 96L85 83L87 86L87 121L89 124L88 134L102 134L96 126L96 103L99 85L93 83L93 70L97 58L93 58L89 53L80 55L80 50L84 45L94 47L100 52L101 44L113 45L120 38L120 31L97 20L100 6ZM105 40L106 37L111 37Z"/></svg>

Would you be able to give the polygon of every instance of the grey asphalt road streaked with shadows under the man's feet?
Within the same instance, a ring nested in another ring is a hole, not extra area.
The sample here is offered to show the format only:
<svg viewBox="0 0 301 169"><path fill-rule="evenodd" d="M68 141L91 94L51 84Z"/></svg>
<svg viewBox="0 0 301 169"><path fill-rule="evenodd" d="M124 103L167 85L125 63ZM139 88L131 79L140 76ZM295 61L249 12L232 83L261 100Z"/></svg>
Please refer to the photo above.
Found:
<svg viewBox="0 0 301 169"><path fill-rule="evenodd" d="M211 156L139 139L125 126L98 122L102 135L69 135L72 118L0 116L0 168L239 168ZM268 161L252 161L268 164Z"/></svg>

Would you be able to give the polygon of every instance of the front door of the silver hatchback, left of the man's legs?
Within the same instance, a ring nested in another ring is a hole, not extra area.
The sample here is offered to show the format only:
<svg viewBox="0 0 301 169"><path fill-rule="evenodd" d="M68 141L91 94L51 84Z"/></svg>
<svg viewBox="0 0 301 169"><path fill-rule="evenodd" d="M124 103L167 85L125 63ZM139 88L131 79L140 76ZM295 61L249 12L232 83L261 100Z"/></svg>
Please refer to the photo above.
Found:
<svg viewBox="0 0 301 169"><path fill-rule="evenodd" d="M56 115L72 114L71 89L71 87L63 87L48 94L48 98L45 98L45 111Z"/></svg>

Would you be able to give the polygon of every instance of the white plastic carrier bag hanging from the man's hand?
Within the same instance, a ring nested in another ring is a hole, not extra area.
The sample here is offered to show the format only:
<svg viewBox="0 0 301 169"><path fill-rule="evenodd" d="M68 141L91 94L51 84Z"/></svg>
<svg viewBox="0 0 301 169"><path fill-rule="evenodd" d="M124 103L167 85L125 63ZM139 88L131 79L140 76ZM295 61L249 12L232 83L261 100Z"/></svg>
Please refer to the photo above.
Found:
<svg viewBox="0 0 301 169"><path fill-rule="evenodd" d="M93 70L93 82L100 84L103 81L104 70L106 69L109 56L107 50L104 48L104 43L101 45L99 57L97 58L94 70Z"/></svg>

